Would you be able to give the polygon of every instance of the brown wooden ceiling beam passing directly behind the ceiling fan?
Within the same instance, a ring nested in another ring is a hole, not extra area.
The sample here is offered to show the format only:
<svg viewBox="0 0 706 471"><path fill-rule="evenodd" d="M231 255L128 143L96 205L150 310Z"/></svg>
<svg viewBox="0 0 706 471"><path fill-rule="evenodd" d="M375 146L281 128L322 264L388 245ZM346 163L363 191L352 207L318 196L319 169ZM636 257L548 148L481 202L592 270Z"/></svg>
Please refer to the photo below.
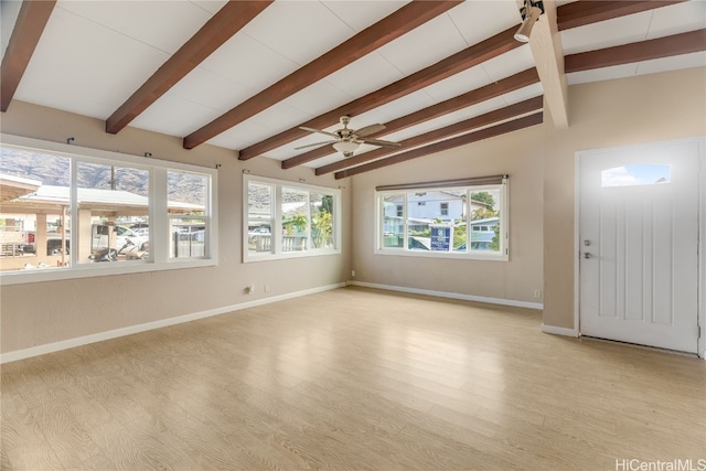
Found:
<svg viewBox="0 0 706 471"><path fill-rule="evenodd" d="M503 94L536 84L537 82L539 82L537 71L534 67L528 68L518 74L420 109L419 111L403 116L402 118L394 119L389 122L385 122L385 129L383 131L368 135L366 136L366 138L377 139L382 136L400 131L411 126L416 126L430 119L438 118L439 116L443 116L462 108L468 108L469 106L477 105L481 101L485 101L488 99L499 97ZM331 146L322 146L299 156L295 156L290 159L284 160L281 167L282 169L291 169L292 167L301 165L302 163L320 159L334 152L335 150L333 150Z"/></svg>

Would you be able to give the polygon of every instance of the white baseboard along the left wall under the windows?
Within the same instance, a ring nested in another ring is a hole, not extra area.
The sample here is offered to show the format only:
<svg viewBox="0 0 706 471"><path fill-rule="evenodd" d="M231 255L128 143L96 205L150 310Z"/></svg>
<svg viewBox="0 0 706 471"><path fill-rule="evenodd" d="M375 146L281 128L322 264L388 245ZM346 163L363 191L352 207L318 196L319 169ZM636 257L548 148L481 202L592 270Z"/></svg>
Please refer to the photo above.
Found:
<svg viewBox="0 0 706 471"><path fill-rule="evenodd" d="M60 342L46 343L44 345L32 346L30 349L15 350L0 354L0 364L17 362L18 360L30 358L32 356L44 355L46 353L58 352L61 350L73 349L75 346L87 345L89 343L103 342L105 340L117 339L119 336L131 335L133 333L146 332L149 330L161 329L169 325L176 325L184 322L191 322L199 319L210 318L212 315L225 314L227 312L240 311L256 306L269 304L272 302L285 301L287 299L299 298L315 292L329 291L331 289L343 288L345 282L327 285L322 287L306 289L303 291L289 292L287 295L272 296L270 298L257 299L255 301L240 302L238 304L224 306L223 308L208 309L206 311L194 312L191 314L179 315L176 318L162 319L159 321L147 322L143 324L129 325L127 328L115 329L106 332L94 333L89 335L77 336L74 339L62 340Z"/></svg>

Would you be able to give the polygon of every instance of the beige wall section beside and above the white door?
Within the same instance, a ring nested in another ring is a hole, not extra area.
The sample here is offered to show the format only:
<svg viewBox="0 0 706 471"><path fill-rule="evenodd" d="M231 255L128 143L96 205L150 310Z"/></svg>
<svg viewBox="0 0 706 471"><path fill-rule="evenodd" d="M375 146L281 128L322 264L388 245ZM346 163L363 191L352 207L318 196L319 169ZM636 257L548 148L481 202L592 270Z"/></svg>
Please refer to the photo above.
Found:
<svg viewBox="0 0 706 471"><path fill-rule="evenodd" d="M574 328L576 152L706 133L706 68L569 87L569 129L546 128L544 323Z"/></svg>

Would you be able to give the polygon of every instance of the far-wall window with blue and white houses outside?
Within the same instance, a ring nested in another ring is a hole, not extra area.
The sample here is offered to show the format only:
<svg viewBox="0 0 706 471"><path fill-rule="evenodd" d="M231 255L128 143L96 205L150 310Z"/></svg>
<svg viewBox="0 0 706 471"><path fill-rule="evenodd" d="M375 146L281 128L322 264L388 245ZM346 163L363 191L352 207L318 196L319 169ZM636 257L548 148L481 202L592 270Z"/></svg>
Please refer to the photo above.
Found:
<svg viewBox="0 0 706 471"><path fill-rule="evenodd" d="M507 260L506 176L418 185L377 189L376 253Z"/></svg>

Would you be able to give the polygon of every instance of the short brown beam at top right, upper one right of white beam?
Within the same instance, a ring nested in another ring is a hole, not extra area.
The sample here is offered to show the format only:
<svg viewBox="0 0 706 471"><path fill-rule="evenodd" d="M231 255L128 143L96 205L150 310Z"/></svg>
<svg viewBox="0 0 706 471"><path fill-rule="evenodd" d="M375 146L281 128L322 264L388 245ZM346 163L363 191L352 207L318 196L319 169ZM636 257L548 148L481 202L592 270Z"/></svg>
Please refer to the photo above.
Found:
<svg viewBox="0 0 706 471"><path fill-rule="evenodd" d="M564 31L600 21L612 20L613 18L654 10L655 8L667 7L682 1L684 0L581 0L557 8L557 25L559 31Z"/></svg>

